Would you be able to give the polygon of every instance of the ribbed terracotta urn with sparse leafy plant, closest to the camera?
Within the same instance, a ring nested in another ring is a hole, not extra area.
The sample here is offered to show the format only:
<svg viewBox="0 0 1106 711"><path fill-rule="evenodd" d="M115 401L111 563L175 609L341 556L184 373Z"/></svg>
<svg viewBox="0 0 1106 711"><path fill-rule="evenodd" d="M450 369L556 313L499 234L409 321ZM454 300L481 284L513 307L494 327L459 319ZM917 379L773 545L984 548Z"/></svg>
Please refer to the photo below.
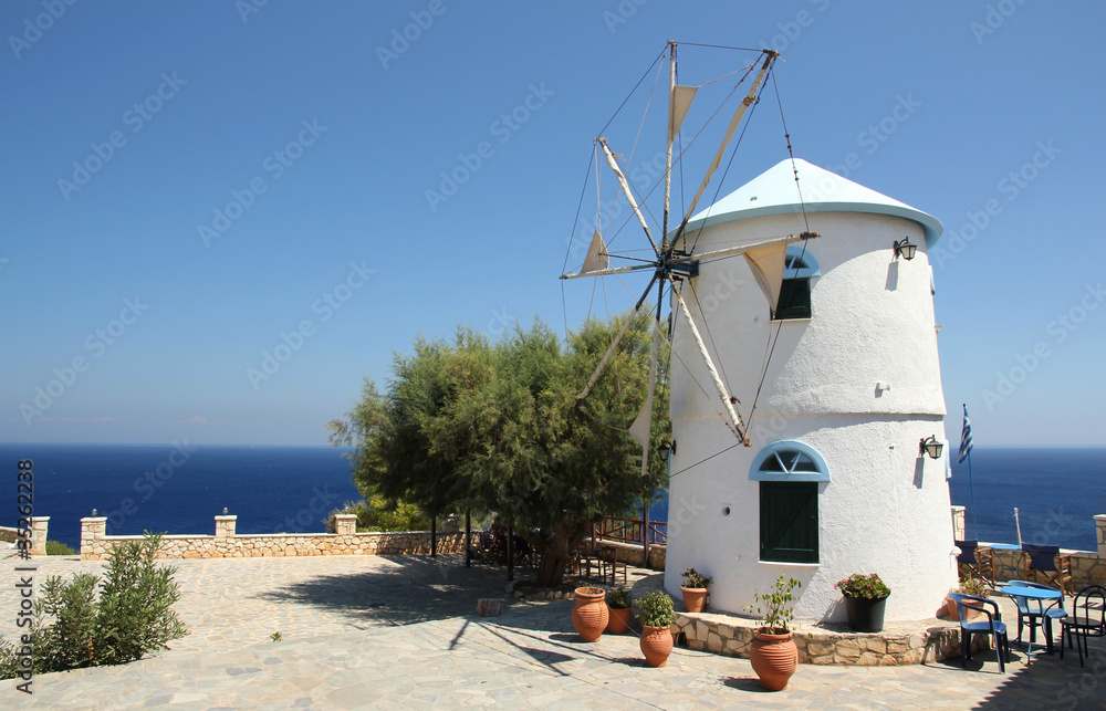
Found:
<svg viewBox="0 0 1106 711"><path fill-rule="evenodd" d="M799 666L799 648L792 637L791 624L795 619L794 597L791 594L802 583L795 578L784 581L781 575L766 595L753 594L757 614L761 615L761 626L753 632L749 646L749 661L769 691L787 688L791 675ZM752 605L745 605L752 610Z"/></svg>

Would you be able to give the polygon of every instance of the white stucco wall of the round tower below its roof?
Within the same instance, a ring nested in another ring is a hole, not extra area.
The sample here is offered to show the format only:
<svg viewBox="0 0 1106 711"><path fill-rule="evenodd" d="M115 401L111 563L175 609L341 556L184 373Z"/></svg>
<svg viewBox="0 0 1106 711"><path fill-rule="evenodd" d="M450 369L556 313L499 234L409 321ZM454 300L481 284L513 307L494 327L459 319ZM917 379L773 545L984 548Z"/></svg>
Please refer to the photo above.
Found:
<svg viewBox="0 0 1106 711"><path fill-rule="evenodd" d="M888 620L930 617L956 583L956 566L946 462L918 454L924 437L948 441L924 232L897 217L810 217L822 234L807 247L822 270L811 282L813 317L782 324L750 421L752 446L686 471L737 439L718 418L709 377L677 318L671 412L678 451L666 587L678 593L680 573L695 566L714 578L711 605L740 613L780 574L794 575L803 583L796 615L839 620L844 606L833 584L875 572L893 589ZM799 216L723 223L705 230L696 251L804 229ZM894 259L891 243L902 237L922 245L910 262ZM695 291L686 287L685 299L700 327L706 324L723 379L748 415L780 324L769 321L768 302L741 258L703 264ZM890 389L877 389L878 383ZM814 447L830 468L832 480L818 484L816 565L759 561L759 482L749 480L749 468L764 446L783 439Z"/></svg>

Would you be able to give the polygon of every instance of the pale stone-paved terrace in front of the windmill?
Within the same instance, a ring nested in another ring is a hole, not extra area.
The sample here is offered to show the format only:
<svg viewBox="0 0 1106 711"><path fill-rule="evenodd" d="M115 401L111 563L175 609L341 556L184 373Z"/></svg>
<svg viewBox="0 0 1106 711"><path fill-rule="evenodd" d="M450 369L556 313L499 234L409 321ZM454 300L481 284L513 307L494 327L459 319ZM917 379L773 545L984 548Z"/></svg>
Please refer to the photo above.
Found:
<svg viewBox="0 0 1106 711"><path fill-rule="evenodd" d="M36 558L49 574L101 563ZM1106 708L1106 642L1081 669L1073 655L1027 659L1005 675L991 652L905 667L802 665L789 688L760 689L744 659L677 648L644 666L633 636L578 641L568 600L504 593L500 568L459 558L328 556L176 561L177 609L191 634L122 667L35 677L33 697L0 681L3 709ZM0 562L0 629L10 636L15 562ZM524 571L523 571L524 573ZM640 574L647 572L641 571ZM480 597L503 614L479 618ZM1015 620L1006 603L1004 618ZM269 635L280 631L283 640Z"/></svg>

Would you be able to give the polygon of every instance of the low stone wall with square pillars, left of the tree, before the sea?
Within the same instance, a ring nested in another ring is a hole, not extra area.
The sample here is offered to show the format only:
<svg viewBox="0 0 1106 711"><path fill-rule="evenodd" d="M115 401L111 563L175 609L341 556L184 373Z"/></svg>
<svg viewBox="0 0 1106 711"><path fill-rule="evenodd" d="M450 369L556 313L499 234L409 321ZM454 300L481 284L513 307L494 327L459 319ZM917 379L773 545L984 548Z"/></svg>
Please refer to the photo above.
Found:
<svg viewBox="0 0 1106 711"><path fill-rule="evenodd" d="M357 533L353 514L338 514L338 533L274 533L238 535L238 516L216 516L215 535L166 535L161 558L249 558L301 555L429 554L429 531ZM142 536L106 535L107 519L81 519L81 560L101 561L118 543ZM438 533L439 553L462 553L465 533Z"/></svg>

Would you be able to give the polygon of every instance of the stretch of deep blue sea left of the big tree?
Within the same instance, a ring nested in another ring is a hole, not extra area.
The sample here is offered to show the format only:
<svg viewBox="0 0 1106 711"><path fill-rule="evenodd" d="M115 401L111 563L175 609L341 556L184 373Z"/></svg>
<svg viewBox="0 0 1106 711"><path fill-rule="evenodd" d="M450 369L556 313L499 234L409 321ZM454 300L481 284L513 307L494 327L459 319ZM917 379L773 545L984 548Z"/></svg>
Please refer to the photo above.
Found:
<svg viewBox="0 0 1106 711"><path fill-rule="evenodd" d="M48 536L77 548L81 519L95 509L108 533L215 533L226 508L239 533L316 533L323 519L359 499L348 450L334 447L196 445L9 445L0 467L0 525L15 525L15 463L34 462L34 515Z"/></svg>

